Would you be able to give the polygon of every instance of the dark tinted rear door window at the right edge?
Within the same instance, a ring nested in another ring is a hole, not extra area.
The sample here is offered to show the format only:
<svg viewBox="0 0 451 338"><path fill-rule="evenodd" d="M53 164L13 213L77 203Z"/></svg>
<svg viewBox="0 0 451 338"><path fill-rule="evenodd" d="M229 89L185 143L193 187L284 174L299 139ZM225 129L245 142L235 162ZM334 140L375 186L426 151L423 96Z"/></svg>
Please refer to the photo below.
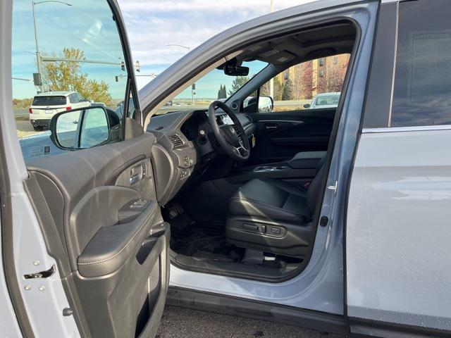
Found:
<svg viewBox="0 0 451 338"><path fill-rule="evenodd" d="M400 3L392 127L451 124L451 1Z"/></svg>

